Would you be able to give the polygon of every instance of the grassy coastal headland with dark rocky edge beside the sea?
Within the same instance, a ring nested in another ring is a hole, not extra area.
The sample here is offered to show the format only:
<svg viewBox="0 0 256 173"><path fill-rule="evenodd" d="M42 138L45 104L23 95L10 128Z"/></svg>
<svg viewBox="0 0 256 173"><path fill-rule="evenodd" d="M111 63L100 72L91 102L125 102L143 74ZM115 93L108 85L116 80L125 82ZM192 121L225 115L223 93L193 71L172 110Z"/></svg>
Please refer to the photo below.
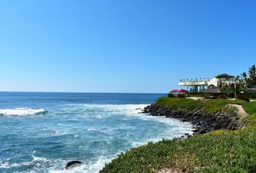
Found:
<svg viewBox="0 0 256 173"><path fill-rule="evenodd" d="M162 97L143 112L190 122L195 134L132 148L101 173L256 172L256 102Z"/></svg>

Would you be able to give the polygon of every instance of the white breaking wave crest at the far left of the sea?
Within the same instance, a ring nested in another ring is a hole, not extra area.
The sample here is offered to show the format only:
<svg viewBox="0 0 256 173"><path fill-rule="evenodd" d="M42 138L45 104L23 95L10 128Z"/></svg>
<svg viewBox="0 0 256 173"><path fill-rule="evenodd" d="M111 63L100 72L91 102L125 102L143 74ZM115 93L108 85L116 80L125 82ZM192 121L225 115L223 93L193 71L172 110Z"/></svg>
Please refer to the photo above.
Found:
<svg viewBox="0 0 256 173"><path fill-rule="evenodd" d="M14 108L14 109L0 110L0 115L38 115L38 114L43 114L43 112L46 112L46 110L20 107L20 108Z"/></svg>

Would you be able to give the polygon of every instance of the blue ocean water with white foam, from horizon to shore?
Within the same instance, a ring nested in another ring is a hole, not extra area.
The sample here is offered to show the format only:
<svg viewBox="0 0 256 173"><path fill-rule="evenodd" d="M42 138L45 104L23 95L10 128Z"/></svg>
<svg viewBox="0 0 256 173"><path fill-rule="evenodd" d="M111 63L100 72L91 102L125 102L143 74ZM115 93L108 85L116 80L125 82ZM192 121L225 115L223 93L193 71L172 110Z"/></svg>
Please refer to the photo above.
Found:
<svg viewBox="0 0 256 173"><path fill-rule="evenodd" d="M0 172L98 172L129 148L192 133L139 113L163 95L0 92ZM71 160L83 164L67 171Z"/></svg>

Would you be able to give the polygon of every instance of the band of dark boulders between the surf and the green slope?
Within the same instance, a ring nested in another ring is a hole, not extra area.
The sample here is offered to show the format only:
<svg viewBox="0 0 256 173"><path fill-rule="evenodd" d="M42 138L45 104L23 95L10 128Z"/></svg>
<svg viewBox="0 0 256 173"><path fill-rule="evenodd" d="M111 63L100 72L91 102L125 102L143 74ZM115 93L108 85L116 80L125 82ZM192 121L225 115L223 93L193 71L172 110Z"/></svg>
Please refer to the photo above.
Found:
<svg viewBox="0 0 256 173"><path fill-rule="evenodd" d="M236 112L213 112L206 113L203 110L169 110L161 105L149 105L142 113L153 116L165 116L176 118L182 122L192 123L195 130L193 135L208 133L213 130L236 130L245 124ZM188 136L188 134L185 134Z"/></svg>

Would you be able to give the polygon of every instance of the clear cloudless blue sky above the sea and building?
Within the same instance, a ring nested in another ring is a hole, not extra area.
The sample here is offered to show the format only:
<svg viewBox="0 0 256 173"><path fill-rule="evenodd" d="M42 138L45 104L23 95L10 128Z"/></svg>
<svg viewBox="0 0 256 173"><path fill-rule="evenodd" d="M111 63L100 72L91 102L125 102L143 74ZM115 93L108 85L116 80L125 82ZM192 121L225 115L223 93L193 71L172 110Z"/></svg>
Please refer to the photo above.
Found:
<svg viewBox="0 0 256 173"><path fill-rule="evenodd" d="M256 1L0 1L0 91L168 92L256 63Z"/></svg>

